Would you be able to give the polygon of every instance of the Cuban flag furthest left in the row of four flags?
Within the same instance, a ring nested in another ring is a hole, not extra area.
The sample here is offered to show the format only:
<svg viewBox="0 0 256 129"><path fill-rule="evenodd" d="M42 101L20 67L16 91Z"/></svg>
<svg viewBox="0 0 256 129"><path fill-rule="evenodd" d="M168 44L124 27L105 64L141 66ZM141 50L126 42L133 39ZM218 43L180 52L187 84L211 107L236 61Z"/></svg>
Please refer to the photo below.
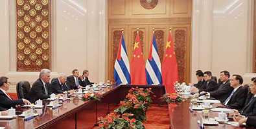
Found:
<svg viewBox="0 0 256 129"><path fill-rule="evenodd" d="M130 79L130 64L124 43L124 35L122 32L117 59L115 60L114 79L117 85L131 84Z"/></svg>

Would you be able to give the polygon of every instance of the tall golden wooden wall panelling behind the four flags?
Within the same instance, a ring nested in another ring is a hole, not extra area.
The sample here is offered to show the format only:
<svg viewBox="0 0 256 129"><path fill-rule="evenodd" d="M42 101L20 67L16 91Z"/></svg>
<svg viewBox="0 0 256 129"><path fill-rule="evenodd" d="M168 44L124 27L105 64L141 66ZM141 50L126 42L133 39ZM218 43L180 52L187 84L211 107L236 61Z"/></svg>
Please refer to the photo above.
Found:
<svg viewBox="0 0 256 129"><path fill-rule="evenodd" d="M143 8L138 0L120 0L119 5L115 0L108 1L108 79L113 80L117 53L115 51L119 47L122 28L124 28L124 41L130 61L137 28L139 28L145 62L152 42L153 28L161 62L169 28L172 28L180 81L190 83L191 8L191 0L161 0L152 9Z"/></svg>

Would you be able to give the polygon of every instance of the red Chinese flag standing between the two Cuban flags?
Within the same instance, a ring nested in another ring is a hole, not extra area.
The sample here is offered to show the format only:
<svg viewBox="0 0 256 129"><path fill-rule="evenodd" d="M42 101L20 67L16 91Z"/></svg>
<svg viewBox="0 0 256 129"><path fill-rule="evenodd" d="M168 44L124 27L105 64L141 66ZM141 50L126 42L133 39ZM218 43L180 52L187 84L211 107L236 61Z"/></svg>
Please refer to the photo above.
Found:
<svg viewBox="0 0 256 129"><path fill-rule="evenodd" d="M131 84L146 84L146 68L141 50L141 41L139 41L139 33L134 43L134 53L130 65Z"/></svg>

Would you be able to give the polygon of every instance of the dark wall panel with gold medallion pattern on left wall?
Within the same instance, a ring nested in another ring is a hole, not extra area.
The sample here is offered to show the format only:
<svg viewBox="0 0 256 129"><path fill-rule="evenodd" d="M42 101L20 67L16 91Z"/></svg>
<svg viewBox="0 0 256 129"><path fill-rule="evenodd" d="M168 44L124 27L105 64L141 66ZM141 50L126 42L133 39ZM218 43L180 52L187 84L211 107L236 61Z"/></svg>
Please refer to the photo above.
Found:
<svg viewBox="0 0 256 129"><path fill-rule="evenodd" d="M17 0L17 71L50 68L50 2Z"/></svg>

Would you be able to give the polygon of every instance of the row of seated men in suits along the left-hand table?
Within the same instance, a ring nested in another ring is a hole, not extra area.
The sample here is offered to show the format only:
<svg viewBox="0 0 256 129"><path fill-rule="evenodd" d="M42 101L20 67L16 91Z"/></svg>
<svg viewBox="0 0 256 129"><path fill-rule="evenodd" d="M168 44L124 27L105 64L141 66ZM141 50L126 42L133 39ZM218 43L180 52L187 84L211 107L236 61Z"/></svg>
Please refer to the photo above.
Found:
<svg viewBox="0 0 256 129"><path fill-rule="evenodd" d="M64 92L75 92L76 89L91 85L88 79L88 70L83 71L83 75L79 75L78 70L73 70L73 75L67 77L65 74L59 74L58 77L51 79L51 70L42 69L39 78L32 84L29 92L29 100L12 99L8 94L10 82L8 77L0 77L0 115L8 115L9 108L16 108L17 105L31 104L38 99L47 99L50 95L56 94L60 97Z"/></svg>

